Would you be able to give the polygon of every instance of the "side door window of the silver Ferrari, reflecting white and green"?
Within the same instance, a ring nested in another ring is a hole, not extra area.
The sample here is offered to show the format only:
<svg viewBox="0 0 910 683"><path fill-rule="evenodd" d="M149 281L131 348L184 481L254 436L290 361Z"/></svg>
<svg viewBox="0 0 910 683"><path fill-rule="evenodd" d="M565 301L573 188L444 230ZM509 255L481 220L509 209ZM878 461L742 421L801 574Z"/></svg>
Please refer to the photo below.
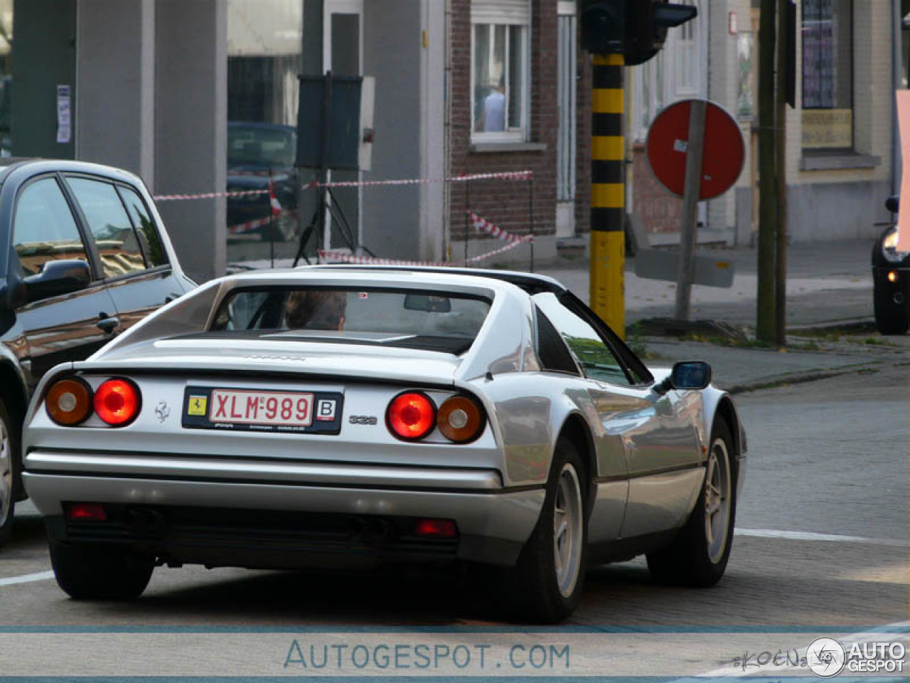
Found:
<svg viewBox="0 0 910 683"><path fill-rule="evenodd" d="M587 321L563 306L549 291L533 299L565 340L585 377L613 384L631 383L622 363Z"/></svg>

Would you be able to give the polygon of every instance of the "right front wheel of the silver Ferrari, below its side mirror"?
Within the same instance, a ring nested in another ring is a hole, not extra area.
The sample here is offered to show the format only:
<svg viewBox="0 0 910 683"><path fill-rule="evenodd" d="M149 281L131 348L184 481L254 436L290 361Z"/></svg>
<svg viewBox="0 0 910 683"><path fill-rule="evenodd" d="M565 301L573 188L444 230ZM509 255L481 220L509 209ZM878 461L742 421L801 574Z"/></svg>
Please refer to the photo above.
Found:
<svg viewBox="0 0 910 683"><path fill-rule="evenodd" d="M730 427L718 420L711 434L702 492L692 515L670 545L648 555L648 568L657 581L705 587L713 586L723 576L733 547L736 519L733 455Z"/></svg>

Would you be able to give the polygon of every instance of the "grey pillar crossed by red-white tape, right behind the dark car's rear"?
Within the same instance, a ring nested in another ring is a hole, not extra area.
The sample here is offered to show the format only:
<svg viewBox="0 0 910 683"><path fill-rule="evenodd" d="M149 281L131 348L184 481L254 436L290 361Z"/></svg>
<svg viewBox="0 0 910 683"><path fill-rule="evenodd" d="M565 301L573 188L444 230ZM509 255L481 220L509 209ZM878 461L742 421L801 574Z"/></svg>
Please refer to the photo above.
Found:
<svg viewBox="0 0 910 683"><path fill-rule="evenodd" d="M157 0L156 194L224 191L227 184L227 3ZM224 199L158 205L177 256L197 281L225 270Z"/></svg>

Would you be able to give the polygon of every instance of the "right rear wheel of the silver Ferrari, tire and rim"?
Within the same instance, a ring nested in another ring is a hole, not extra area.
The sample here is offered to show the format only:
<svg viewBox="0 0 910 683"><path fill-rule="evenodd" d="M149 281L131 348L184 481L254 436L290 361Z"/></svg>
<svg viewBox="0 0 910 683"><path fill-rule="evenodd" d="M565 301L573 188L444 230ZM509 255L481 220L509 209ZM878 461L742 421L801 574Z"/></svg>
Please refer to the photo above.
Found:
<svg viewBox="0 0 910 683"><path fill-rule="evenodd" d="M581 600L588 545L585 474L575 447L561 439L541 517L502 586L516 617L556 624Z"/></svg>

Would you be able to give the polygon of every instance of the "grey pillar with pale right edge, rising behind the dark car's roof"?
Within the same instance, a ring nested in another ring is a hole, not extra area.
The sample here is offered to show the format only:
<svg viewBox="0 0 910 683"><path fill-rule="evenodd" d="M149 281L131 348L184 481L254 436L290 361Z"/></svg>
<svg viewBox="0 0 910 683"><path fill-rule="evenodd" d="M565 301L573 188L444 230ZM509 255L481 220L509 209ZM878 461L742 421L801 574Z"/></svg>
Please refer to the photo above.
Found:
<svg viewBox="0 0 910 683"><path fill-rule="evenodd" d="M155 0L80 0L76 157L155 185Z"/></svg>

